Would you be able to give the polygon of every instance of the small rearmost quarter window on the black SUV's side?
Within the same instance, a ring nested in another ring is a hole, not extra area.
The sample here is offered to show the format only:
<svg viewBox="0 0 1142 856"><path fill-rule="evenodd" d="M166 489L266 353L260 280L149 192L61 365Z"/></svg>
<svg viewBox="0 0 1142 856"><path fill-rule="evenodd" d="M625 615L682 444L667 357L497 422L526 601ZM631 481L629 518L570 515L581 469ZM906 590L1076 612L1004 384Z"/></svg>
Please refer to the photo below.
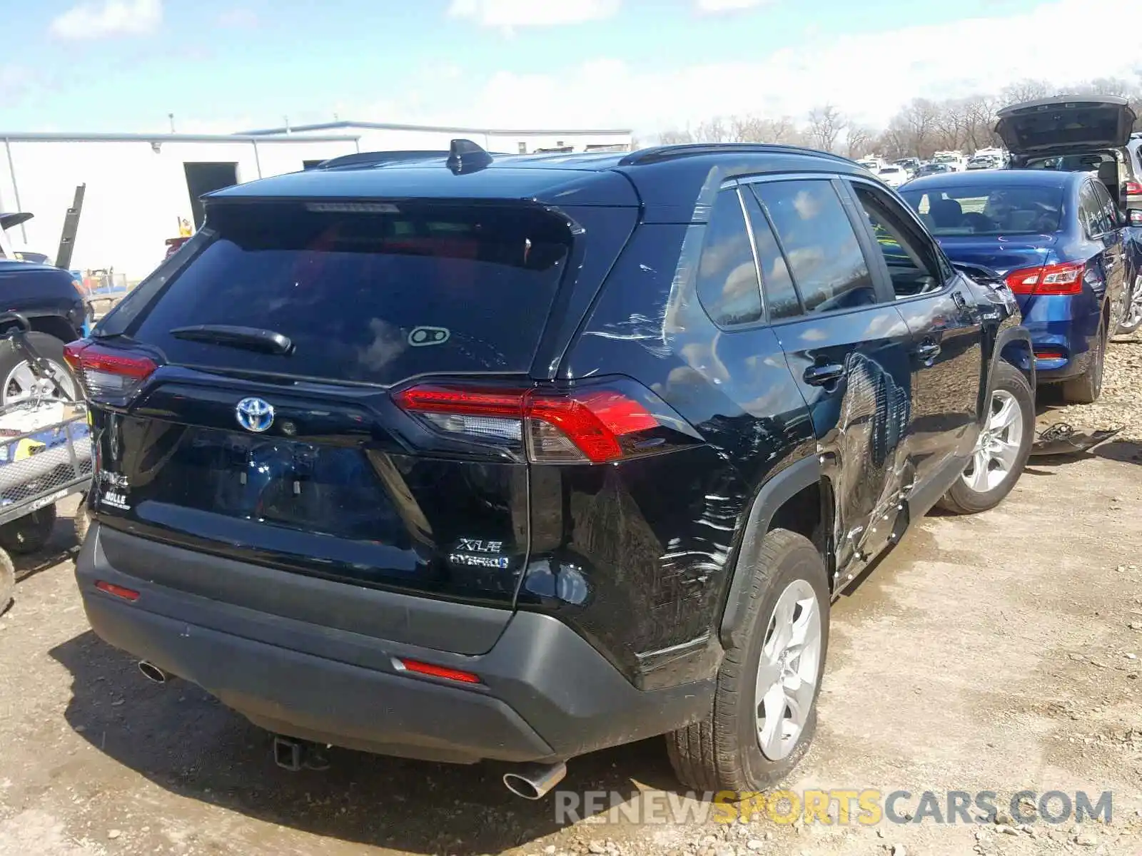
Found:
<svg viewBox="0 0 1142 856"><path fill-rule="evenodd" d="M762 290L737 189L714 202L698 261L698 299L718 326L753 324L762 317Z"/></svg>

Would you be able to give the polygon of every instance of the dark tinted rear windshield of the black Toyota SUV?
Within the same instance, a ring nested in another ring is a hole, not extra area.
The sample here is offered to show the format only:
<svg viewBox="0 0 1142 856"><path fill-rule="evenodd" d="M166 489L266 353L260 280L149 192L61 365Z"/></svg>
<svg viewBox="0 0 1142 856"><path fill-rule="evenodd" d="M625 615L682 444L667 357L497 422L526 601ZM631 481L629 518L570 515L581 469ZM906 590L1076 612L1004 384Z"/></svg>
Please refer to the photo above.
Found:
<svg viewBox="0 0 1142 856"><path fill-rule="evenodd" d="M570 249L564 220L522 205L228 204L207 228L127 332L171 363L386 385L530 369ZM196 324L268 329L293 349L170 333Z"/></svg>

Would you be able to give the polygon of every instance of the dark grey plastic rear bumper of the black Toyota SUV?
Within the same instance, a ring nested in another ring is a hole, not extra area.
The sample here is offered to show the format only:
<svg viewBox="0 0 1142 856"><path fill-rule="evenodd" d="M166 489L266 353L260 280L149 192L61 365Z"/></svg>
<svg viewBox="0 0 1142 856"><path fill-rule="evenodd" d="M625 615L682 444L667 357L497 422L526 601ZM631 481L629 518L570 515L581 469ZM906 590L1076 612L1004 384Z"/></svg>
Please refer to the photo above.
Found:
<svg viewBox="0 0 1142 856"><path fill-rule="evenodd" d="M96 633L288 736L459 764L565 760L697 721L711 704L713 680L635 688L547 615L517 613L485 654L452 654L148 582L112 567L100 539L96 525L75 568ZM160 549L168 567L201 565L200 554L151 541L142 547ZM235 563L222 564L219 573L240 573ZM95 588L97 580L135 589L139 598L107 595ZM411 676L394 657L475 672L482 683Z"/></svg>

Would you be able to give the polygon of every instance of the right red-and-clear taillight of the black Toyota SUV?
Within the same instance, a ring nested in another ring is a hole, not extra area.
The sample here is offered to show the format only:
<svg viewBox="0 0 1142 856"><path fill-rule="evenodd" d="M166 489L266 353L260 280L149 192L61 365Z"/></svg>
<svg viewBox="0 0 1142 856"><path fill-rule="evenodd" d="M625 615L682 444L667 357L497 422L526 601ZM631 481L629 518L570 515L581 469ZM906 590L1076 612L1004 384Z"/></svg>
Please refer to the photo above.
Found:
<svg viewBox="0 0 1142 856"><path fill-rule="evenodd" d="M573 390L421 383L394 397L439 434L536 463L605 463L699 439L657 396L628 380Z"/></svg>

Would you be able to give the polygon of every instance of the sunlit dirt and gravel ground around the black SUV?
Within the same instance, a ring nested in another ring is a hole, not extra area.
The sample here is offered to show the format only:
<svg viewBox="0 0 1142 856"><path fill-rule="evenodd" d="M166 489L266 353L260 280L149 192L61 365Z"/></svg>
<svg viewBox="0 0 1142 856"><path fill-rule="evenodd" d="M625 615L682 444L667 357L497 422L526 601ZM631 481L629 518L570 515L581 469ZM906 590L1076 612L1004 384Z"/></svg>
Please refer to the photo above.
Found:
<svg viewBox="0 0 1142 856"><path fill-rule="evenodd" d="M1107 383L1040 427L1127 425L1115 441L1032 460L995 511L930 516L834 607L817 742L788 784L909 791L901 815L926 790L995 791L1000 809L1110 791L1110 824L637 823L664 800L702 808L658 741L572 761L562 788L617 806L573 824L483 767L333 751L286 773L267 735L91 633L61 520L0 619L0 854L1142 854L1142 342L1113 346Z"/></svg>

